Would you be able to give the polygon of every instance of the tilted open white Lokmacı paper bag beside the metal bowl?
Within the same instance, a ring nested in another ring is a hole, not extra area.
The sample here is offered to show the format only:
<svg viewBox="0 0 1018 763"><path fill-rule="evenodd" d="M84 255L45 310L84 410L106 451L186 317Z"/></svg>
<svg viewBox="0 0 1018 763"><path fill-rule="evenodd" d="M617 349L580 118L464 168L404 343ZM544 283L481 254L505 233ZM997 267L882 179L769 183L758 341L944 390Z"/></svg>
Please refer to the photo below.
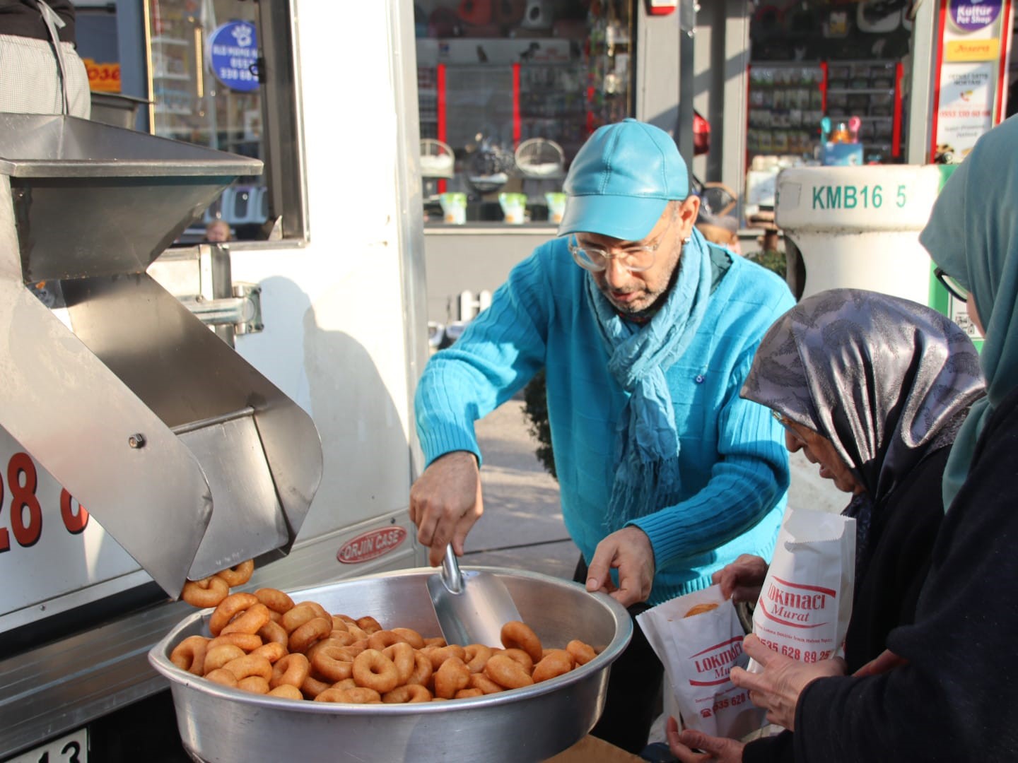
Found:
<svg viewBox="0 0 1018 763"><path fill-rule="evenodd" d="M686 617L699 604L714 608ZM719 586L659 604L637 614L636 622L665 665L665 707L677 709L683 727L731 739L760 727L765 711L728 678L732 666L745 667L748 657L735 605L721 598Z"/></svg>

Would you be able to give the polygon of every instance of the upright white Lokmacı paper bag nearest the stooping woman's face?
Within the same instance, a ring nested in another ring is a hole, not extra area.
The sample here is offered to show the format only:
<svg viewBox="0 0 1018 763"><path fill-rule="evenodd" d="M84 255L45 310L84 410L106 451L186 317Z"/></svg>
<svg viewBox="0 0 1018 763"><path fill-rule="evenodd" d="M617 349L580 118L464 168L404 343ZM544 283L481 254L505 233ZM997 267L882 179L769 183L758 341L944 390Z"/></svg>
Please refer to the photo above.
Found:
<svg viewBox="0 0 1018 763"><path fill-rule="evenodd" d="M854 585L855 520L789 509L753 610L753 635L803 662L840 655ZM748 669L762 668L750 660Z"/></svg>

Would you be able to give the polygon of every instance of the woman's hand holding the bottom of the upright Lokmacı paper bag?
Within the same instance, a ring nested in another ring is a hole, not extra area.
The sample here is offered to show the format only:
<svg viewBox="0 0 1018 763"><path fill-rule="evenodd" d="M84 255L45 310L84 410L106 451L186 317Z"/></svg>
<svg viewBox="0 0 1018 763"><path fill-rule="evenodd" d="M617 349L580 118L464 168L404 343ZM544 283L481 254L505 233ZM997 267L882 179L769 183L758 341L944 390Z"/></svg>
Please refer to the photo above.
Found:
<svg viewBox="0 0 1018 763"><path fill-rule="evenodd" d="M790 731L795 730L795 706L807 684L816 679L844 676L845 660L840 657L819 662L799 662L766 647L755 636L742 640L742 650L764 666L764 672L749 672L733 667L732 683L749 690L749 699L767 710L767 719Z"/></svg>

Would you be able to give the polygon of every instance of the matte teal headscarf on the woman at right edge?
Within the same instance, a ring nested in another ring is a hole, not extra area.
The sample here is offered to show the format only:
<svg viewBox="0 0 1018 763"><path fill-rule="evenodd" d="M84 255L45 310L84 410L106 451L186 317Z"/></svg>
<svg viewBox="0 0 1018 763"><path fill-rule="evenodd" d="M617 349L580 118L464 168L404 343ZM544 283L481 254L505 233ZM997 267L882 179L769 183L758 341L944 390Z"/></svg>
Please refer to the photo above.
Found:
<svg viewBox="0 0 1018 763"><path fill-rule="evenodd" d="M979 363L986 397L972 405L951 449L947 511L968 476L982 427L1018 387L1018 117L979 138L941 191L919 241L969 290L985 330Z"/></svg>

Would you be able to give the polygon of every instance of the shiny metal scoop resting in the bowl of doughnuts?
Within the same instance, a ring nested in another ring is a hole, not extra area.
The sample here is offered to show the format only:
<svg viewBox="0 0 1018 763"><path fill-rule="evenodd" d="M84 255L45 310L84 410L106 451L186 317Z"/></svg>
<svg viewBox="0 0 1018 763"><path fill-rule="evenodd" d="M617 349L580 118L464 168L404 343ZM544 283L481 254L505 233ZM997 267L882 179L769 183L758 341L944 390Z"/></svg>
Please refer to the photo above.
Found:
<svg viewBox="0 0 1018 763"><path fill-rule="evenodd" d="M452 545L446 546L442 572L428 578L442 636L450 644L502 645L502 626L519 620L509 589L492 573L460 572Z"/></svg>

